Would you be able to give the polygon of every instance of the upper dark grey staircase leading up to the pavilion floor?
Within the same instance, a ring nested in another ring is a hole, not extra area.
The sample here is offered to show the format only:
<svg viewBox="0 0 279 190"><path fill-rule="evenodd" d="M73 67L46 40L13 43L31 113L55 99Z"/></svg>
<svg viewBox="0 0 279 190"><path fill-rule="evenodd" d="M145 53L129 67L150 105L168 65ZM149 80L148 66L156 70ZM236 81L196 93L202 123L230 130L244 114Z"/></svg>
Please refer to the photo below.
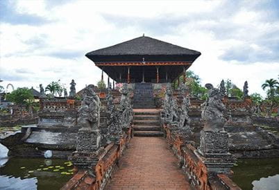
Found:
<svg viewBox="0 0 279 190"><path fill-rule="evenodd" d="M154 109L153 88L151 83L135 83L133 108Z"/></svg>

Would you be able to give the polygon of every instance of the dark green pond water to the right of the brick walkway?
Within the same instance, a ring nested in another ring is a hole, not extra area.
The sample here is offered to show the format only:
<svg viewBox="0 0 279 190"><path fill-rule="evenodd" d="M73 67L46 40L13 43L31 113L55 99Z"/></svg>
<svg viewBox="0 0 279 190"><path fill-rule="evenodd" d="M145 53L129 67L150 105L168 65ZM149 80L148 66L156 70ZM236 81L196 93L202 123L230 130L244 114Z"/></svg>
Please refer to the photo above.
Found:
<svg viewBox="0 0 279 190"><path fill-rule="evenodd" d="M279 158L238 159L232 180L242 189L279 189Z"/></svg>

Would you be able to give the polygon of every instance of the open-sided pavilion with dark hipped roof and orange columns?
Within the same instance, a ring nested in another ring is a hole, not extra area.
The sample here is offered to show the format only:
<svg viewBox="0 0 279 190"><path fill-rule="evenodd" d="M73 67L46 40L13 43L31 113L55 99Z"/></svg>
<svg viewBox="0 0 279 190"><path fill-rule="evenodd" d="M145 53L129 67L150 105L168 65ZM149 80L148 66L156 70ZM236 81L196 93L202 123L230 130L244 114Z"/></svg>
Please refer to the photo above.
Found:
<svg viewBox="0 0 279 190"><path fill-rule="evenodd" d="M85 56L117 83L169 83L179 80L200 52L142 36ZM178 82L179 83L179 82Z"/></svg>

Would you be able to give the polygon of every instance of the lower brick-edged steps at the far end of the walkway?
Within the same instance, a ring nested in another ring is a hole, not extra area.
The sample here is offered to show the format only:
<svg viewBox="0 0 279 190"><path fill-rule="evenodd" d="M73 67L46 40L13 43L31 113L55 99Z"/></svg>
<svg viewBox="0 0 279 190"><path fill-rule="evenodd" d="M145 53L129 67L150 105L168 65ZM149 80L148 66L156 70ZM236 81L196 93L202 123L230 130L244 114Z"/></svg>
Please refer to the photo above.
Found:
<svg viewBox="0 0 279 190"><path fill-rule="evenodd" d="M163 137L160 128L160 111L151 109L134 110L135 137Z"/></svg>

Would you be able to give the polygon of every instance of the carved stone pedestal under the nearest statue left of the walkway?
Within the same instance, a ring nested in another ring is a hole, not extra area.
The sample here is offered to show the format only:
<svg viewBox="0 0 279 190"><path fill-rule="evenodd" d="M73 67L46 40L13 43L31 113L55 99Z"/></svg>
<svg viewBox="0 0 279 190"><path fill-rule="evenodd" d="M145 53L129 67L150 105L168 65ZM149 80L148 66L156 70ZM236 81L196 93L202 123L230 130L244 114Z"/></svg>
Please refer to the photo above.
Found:
<svg viewBox="0 0 279 190"><path fill-rule="evenodd" d="M99 162L100 141L99 130L79 130L76 151L69 157L69 160L79 169L94 168Z"/></svg>

